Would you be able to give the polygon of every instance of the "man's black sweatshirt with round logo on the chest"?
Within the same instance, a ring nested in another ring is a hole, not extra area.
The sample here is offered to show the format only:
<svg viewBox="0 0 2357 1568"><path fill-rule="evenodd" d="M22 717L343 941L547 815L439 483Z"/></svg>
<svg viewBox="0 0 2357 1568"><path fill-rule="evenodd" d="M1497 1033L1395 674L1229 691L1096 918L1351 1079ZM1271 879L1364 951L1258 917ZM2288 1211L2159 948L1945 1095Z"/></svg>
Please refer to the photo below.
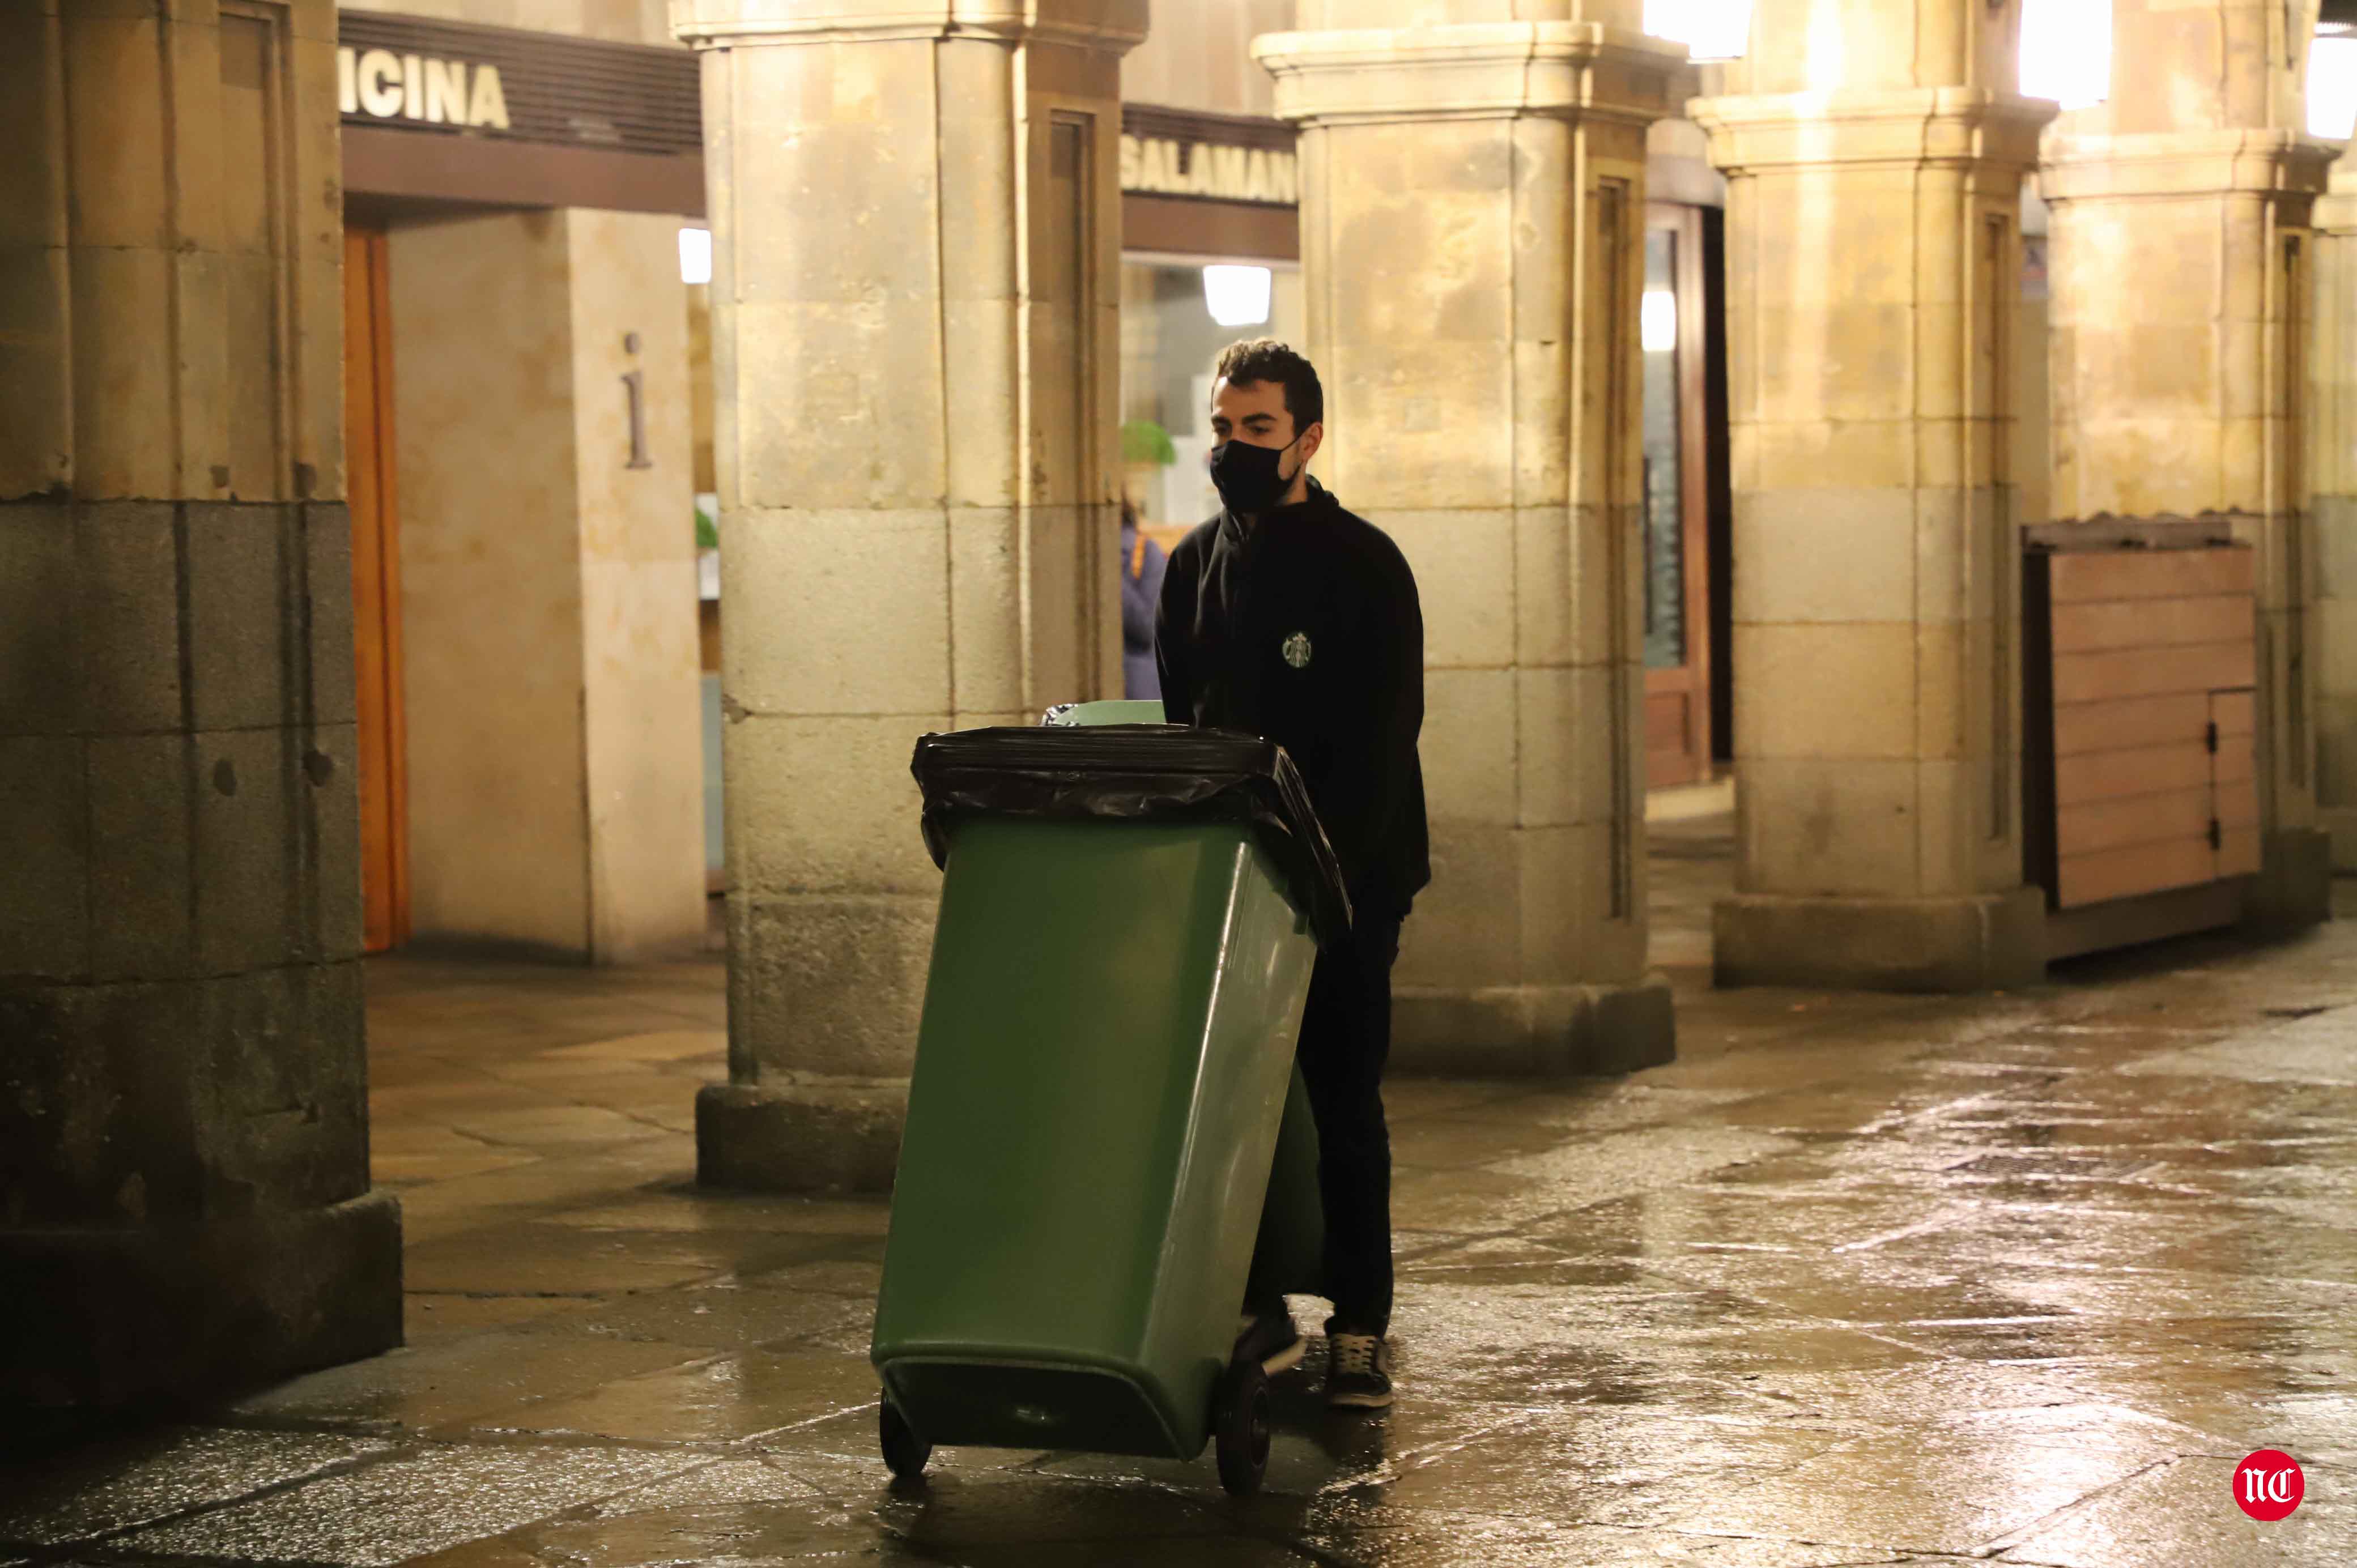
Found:
<svg viewBox="0 0 2357 1568"><path fill-rule="evenodd" d="M1155 615L1162 712L1282 745L1351 903L1407 915L1433 879L1424 825L1424 611L1407 556L1315 479L1249 526L1221 512L1171 549Z"/></svg>

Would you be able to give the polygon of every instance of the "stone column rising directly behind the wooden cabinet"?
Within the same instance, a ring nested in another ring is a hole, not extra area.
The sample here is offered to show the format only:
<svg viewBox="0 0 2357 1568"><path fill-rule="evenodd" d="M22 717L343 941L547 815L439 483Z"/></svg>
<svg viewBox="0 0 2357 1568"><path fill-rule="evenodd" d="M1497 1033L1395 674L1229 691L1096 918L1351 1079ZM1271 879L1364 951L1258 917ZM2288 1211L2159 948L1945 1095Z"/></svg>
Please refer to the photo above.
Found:
<svg viewBox="0 0 2357 1568"><path fill-rule="evenodd" d="M2303 424L2315 0L2114 0L2112 99L2055 127L2058 519L2227 512L2258 552L2260 872L2249 920L2326 917ZM2138 278L2121 288L2121 278Z"/></svg>

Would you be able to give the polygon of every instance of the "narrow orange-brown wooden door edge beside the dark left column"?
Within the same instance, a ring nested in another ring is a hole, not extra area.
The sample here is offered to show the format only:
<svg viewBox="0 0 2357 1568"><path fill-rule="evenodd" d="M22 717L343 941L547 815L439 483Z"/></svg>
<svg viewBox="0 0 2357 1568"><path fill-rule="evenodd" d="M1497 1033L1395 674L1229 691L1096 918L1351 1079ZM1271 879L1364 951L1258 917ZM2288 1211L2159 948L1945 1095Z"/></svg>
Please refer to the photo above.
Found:
<svg viewBox="0 0 2357 1568"><path fill-rule="evenodd" d="M344 231L344 493L351 500L351 655L361 717L361 927L370 953L410 936L401 722L401 514L394 505L394 347L384 231Z"/></svg>

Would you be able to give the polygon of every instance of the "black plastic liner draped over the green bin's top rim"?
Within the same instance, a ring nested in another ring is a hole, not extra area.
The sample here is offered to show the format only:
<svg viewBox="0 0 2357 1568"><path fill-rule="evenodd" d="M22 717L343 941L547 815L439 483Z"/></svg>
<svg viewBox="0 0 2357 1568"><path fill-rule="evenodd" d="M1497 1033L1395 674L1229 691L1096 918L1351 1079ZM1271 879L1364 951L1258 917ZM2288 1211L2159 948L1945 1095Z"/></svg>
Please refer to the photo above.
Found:
<svg viewBox="0 0 2357 1568"><path fill-rule="evenodd" d="M969 816L1240 823L1277 863L1285 896L1318 946L1351 931L1351 896L1308 788L1285 747L1233 729L1096 724L959 729L922 736L924 846L950 861Z"/></svg>

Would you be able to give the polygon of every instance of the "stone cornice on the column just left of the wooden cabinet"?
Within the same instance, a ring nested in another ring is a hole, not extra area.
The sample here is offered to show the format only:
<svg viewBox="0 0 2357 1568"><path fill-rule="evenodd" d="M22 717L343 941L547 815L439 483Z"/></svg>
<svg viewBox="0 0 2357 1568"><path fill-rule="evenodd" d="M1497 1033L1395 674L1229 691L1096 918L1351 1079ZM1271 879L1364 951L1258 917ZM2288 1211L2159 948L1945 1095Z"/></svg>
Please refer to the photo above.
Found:
<svg viewBox="0 0 2357 1568"><path fill-rule="evenodd" d="M1985 87L1777 92L1695 99L1685 118L1711 137L1725 174L1791 167L1992 167L2029 172L2046 99Z"/></svg>

